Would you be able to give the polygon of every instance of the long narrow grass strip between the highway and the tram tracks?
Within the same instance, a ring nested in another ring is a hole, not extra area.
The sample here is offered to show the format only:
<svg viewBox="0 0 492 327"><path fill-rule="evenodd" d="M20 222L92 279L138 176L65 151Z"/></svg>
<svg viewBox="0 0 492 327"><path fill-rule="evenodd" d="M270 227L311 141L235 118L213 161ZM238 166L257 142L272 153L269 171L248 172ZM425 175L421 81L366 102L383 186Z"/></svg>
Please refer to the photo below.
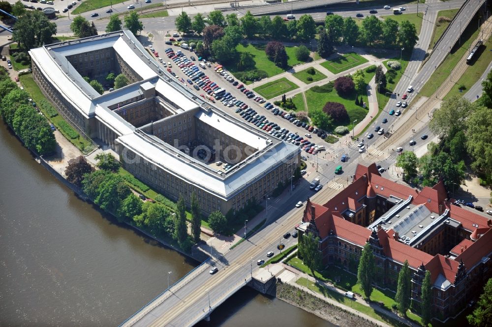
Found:
<svg viewBox="0 0 492 327"><path fill-rule="evenodd" d="M413 101L417 101L421 96L431 96L444 81L449 78L452 69L458 64L461 58L468 52L471 43L478 37L476 20L473 19L461 35L461 46L459 42L451 49L446 59L437 67L427 83L419 90L418 96Z"/></svg>

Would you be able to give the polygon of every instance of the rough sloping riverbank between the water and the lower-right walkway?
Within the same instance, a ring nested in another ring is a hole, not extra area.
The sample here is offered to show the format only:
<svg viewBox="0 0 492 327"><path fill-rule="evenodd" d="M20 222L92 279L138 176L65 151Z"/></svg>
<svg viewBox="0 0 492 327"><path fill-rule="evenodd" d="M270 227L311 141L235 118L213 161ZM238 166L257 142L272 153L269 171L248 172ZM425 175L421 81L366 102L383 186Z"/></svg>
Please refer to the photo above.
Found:
<svg viewBox="0 0 492 327"><path fill-rule="evenodd" d="M289 284L277 282L277 298L340 327L371 327L374 324Z"/></svg>

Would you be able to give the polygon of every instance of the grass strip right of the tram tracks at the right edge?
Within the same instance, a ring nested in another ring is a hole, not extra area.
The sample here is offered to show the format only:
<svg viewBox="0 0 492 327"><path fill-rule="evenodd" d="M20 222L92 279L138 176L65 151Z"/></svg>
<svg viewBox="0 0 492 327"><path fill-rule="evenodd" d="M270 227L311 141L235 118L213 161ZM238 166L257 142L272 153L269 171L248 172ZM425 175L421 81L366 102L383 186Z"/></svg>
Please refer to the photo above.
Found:
<svg viewBox="0 0 492 327"><path fill-rule="evenodd" d="M453 86L453 88L446 94L444 99L449 98L452 95L461 94L464 95L468 89L470 89L473 84L475 84L478 79L482 76L484 71L487 69L487 66L492 61L492 51L490 42L492 41L492 37L489 37L489 40L485 41L482 47L480 48L480 52L475 56L480 55L477 59L472 62L472 64L468 65L466 68L466 72L461 75L461 78L458 82ZM464 86L465 89L460 93L460 86ZM478 94L481 95L481 94Z"/></svg>

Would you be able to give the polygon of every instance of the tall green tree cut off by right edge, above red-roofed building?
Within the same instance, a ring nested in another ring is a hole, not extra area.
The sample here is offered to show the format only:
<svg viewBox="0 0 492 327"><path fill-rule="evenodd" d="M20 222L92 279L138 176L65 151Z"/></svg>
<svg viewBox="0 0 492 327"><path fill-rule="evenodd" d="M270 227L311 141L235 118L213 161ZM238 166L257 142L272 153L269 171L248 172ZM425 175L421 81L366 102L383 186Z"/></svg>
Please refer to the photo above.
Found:
<svg viewBox="0 0 492 327"><path fill-rule="evenodd" d="M490 75L490 74L489 74ZM473 158L471 168L485 175L492 175L492 111L478 106L466 120L466 148Z"/></svg>

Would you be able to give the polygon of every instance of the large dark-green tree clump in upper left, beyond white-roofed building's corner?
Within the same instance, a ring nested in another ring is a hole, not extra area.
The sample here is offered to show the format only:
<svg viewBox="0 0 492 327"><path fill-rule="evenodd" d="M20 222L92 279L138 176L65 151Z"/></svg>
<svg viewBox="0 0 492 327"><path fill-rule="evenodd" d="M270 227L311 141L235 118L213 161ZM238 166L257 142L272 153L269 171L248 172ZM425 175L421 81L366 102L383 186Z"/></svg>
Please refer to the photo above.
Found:
<svg viewBox="0 0 492 327"><path fill-rule="evenodd" d="M52 36L57 33L57 25L37 11L28 11L14 24L12 39L20 48L30 50L43 44L52 43Z"/></svg>

